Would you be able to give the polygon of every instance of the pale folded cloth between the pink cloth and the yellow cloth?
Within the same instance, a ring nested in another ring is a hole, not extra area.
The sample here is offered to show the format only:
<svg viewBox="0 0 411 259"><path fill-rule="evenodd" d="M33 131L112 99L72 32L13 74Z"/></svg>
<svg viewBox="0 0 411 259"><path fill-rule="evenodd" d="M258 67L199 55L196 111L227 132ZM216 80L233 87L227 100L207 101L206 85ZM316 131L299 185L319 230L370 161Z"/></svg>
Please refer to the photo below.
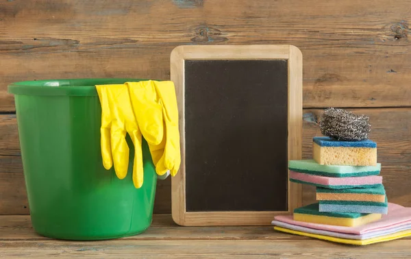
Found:
<svg viewBox="0 0 411 259"><path fill-rule="evenodd" d="M364 234L345 234L345 233L332 232L332 231L327 231L327 230L316 230L314 228L301 227L299 225L292 225L292 224L284 223L281 221L273 221L272 224L277 227L288 228L289 230L307 232L311 234L320 234L324 236L334 236L338 238L357 239L357 240L376 238L379 236L386 236L388 234L394 234L394 233L401 232L404 230L411 230L411 223L406 224L406 225L399 225L397 227L391 227L386 230L377 230L377 231L368 232Z"/></svg>

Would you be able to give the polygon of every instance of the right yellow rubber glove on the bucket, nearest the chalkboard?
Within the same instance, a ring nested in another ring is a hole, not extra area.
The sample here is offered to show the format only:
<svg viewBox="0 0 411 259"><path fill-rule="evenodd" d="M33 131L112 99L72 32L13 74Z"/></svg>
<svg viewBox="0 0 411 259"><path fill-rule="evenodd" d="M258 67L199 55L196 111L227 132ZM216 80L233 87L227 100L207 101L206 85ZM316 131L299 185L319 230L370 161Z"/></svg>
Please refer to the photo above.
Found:
<svg viewBox="0 0 411 259"><path fill-rule="evenodd" d="M158 175L171 171L175 175L181 163L179 150L178 110L173 82L127 82L134 114L142 135L149 144ZM158 130L154 130L157 128ZM150 129L150 130L149 130ZM160 132L163 131L162 134ZM153 140L160 139L156 143Z"/></svg>

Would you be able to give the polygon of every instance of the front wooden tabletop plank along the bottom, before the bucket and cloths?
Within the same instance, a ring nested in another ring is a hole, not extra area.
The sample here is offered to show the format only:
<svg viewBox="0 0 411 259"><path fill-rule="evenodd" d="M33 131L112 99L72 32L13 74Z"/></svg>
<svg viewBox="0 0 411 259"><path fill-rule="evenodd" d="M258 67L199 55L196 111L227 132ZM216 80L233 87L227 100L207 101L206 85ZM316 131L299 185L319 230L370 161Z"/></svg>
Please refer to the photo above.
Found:
<svg viewBox="0 0 411 259"><path fill-rule="evenodd" d="M7 258L410 258L410 239L367 247L273 234L276 240L3 241ZM377 248L377 249L375 249Z"/></svg>

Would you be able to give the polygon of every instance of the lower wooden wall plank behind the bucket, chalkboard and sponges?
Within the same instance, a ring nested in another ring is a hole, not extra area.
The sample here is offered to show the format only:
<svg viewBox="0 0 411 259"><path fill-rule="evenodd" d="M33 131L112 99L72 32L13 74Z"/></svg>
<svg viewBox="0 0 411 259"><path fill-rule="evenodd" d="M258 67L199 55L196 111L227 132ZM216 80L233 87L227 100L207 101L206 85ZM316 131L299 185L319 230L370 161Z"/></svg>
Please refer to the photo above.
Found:
<svg viewBox="0 0 411 259"><path fill-rule="evenodd" d="M411 206L411 108L351 109L371 119L370 138L377 143L378 162L388 201ZM312 137L321 134L319 119L322 109L303 112L303 158L312 156ZM6 128L11 129L4 130ZM0 214L28 214L27 197L16 134L16 119L0 115ZM5 144L7 143L7 144ZM179 175L179 174L177 174ZM177 177L177 176L176 176ZM315 188L303 185L303 204L315 201ZM171 180L158 181L155 213L171 212Z"/></svg>

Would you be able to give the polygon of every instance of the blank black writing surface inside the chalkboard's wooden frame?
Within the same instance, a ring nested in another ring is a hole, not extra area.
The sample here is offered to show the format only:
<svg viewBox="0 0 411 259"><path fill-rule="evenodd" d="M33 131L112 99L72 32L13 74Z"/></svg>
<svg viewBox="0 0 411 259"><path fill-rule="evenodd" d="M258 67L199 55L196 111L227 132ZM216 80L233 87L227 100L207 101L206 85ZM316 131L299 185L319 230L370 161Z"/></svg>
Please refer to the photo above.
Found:
<svg viewBox="0 0 411 259"><path fill-rule="evenodd" d="M186 60L186 210L287 210L287 60Z"/></svg>

